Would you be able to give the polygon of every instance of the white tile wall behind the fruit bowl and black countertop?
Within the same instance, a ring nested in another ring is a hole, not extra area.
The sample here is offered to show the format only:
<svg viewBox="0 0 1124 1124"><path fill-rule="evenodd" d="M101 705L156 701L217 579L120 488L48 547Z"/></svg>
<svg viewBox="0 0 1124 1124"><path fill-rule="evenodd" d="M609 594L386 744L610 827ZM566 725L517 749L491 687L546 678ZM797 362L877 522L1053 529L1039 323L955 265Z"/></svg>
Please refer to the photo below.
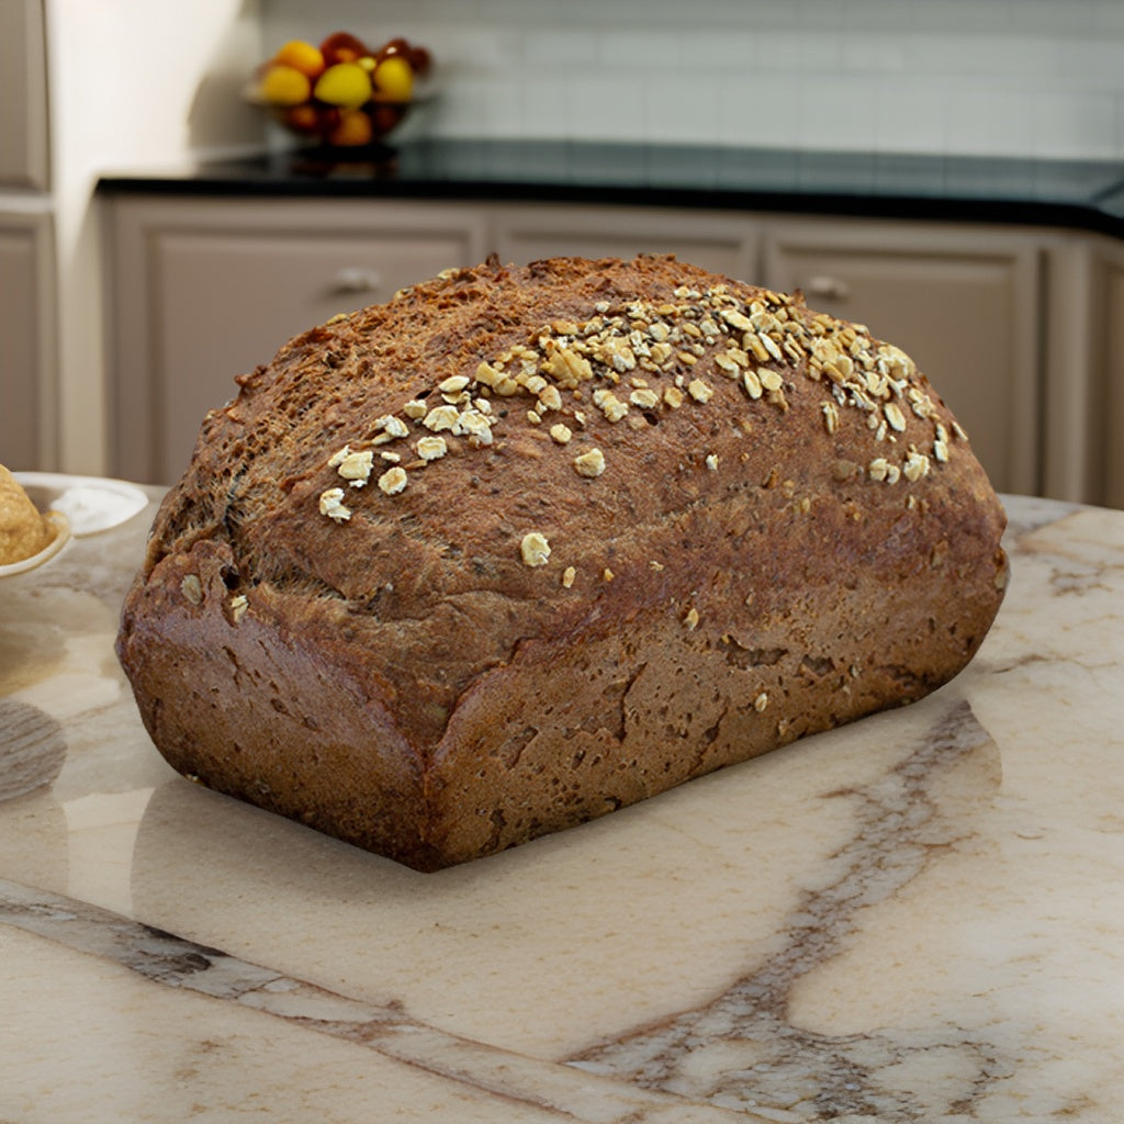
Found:
<svg viewBox="0 0 1124 1124"><path fill-rule="evenodd" d="M1124 0L261 0L437 60L441 136L1124 157Z"/></svg>

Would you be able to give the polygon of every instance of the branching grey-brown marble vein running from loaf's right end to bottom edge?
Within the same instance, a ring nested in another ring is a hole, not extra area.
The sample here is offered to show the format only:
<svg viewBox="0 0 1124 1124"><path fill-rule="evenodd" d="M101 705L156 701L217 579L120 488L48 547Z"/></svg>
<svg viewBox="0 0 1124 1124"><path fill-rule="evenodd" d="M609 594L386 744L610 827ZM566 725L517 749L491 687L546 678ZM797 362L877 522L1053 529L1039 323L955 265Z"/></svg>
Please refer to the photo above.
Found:
<svg viewBox="0 0 1124 1124"><path fill-rule="evenodd" d="M969 1111L972 1090L1009 1070L994 1044L959 1027L943 1035L823 1034L791 1017L795 984L841 951L863 910L961 842L963 825L942 815L935 796L941 773L958 768L971 769L985 791L998 786L995 743L967 701L950 707L872 783L828 794L854 805L854 835L832 855L832 878L801 894L776 950L751 975L711 1003L587 1051L575 1063L734 1108L783 1104L800 1091L794 1121L870 1114L907 1122ZM934 1050L954 1051L963 1073L942 1089L944 1103L927 1103L924 1090L895 1088L880 1078ZM705 1062L708 1053L720 1059L720 1068Z"/></svg>

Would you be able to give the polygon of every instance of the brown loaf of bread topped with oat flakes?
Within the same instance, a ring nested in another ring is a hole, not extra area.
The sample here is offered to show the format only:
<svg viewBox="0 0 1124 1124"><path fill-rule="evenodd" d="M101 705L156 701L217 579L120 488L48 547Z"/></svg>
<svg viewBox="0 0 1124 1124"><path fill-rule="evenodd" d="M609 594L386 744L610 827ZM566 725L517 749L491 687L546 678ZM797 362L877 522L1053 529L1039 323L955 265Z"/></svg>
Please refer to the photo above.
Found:
<svg viewBox="0 0 1124 1124"><path fill-rule="evenodd" d="M418 870L915 700L1003 597L914 363L673 257L446 271L236 381L121 664L175 769Z"/></svg>

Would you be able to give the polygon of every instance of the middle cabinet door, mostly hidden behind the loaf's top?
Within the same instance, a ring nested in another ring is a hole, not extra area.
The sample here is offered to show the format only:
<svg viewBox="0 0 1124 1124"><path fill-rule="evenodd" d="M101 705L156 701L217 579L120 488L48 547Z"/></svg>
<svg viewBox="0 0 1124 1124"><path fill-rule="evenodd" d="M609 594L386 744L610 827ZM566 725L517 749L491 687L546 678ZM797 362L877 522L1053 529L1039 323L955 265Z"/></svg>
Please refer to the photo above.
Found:
<svg viewBox="0 0 1124 1124"><path fill-rule="evenodd" d="M504 262L543 257L676 254L714 273L752 281L758 237L736 215L641 207L515 206L497 211L495 246Z"/></svg>

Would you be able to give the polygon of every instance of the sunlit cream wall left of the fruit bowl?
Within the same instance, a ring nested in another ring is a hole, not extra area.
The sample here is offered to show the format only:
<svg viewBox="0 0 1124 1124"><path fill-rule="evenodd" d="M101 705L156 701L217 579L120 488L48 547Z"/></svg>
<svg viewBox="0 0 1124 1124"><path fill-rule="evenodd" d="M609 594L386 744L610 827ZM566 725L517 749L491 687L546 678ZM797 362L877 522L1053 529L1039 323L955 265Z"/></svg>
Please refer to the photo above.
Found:
<svg viewBox="0 0 1124 1124"><path fill-rule="evenodd" d="M57 254L55 466L106 463L99 172L162 165L256 140L238 90L261 53L256 2L47 0L47 75Z"/></svg>

